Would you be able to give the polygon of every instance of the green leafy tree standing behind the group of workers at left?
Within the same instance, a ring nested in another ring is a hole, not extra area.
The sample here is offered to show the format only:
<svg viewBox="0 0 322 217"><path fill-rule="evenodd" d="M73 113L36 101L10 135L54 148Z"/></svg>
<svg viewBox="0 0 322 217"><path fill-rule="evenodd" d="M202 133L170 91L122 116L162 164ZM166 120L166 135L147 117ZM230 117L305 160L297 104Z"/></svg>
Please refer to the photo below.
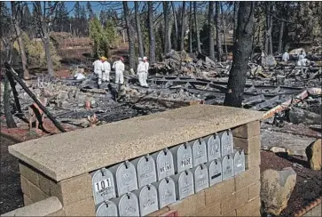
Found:
<svg viewBox="0 0 322 217"><path fill-rule="evenodd" d="M118 37L112 20L106 21L106 28L102 28L97 18L90 20L90 39L93 54L96 58L102 55L110 57L110 48L118 44Z"/></svg>

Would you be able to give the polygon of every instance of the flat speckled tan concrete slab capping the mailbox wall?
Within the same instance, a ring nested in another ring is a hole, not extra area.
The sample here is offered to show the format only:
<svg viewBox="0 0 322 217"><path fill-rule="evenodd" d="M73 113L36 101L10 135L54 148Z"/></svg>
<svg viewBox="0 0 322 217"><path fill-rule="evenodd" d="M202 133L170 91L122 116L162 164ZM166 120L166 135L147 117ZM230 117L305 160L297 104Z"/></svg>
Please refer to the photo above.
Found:
<svg viewBox="0 0 322 217"><path fill-rule="evenodd" d="M247 109L193 105L22 142L9 152L61 181L262 117Z"/></svg>

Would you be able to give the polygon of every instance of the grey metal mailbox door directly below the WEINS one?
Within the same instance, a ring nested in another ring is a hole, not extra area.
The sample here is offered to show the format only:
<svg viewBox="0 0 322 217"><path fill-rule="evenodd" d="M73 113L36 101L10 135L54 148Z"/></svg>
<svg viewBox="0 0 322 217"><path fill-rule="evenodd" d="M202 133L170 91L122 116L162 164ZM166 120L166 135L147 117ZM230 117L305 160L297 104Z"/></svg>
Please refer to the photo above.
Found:
<svg viewBox="0 0 322 217"><path fill-rule="evenodd" d="M177 201L175 181L170 177L154 182L153 185L158 190L160 209Z"/></svg>

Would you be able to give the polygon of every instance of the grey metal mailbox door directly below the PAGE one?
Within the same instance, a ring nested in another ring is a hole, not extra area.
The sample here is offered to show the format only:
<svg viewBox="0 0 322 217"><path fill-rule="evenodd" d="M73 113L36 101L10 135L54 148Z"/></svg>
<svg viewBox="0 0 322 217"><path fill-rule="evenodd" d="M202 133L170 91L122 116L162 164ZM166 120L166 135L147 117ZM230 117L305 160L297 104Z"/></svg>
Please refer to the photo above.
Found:
<svg viewBox="0 0 322 217"><path fill-rule="evenodd" d="M177 200L194 194L193 174L190 170L172 176L176 183Z"/></svg>

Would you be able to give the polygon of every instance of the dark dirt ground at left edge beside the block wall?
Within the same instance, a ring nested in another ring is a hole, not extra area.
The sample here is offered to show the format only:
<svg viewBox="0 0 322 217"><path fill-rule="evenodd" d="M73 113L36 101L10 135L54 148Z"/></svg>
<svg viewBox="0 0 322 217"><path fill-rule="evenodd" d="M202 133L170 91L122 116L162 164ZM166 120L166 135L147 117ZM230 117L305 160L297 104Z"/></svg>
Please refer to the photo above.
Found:
<svg viewBox="0 0 322 217"><path fill-rule="evenodd" d="M8 152L14 142L0 136L0 214L23 206L18 159Z"/></svg>

